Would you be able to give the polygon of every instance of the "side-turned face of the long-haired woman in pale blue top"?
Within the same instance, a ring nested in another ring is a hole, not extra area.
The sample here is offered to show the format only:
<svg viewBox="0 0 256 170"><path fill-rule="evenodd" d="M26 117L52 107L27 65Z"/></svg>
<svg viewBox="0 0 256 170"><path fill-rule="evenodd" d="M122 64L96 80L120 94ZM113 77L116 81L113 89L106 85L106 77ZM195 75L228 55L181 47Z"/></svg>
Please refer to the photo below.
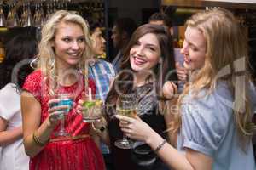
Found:
<svg viewBox="0 0 256 170"><path fill-rule="evenodd" d="M184 67L189 71L199 70L205 64L207 41L202 32L188 26L181 53L184 55Z"/></svg>

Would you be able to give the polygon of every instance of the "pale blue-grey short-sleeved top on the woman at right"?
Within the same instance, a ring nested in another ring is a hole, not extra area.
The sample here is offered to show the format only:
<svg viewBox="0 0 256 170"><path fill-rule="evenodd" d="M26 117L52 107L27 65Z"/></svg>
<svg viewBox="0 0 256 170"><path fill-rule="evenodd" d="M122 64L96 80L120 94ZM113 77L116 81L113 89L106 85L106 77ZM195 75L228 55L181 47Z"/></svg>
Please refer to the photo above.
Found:
<svg viewBox="0 0 256 170"><path fill-rule="evenodd" d="M252 111L256 93L249 84ZM177 137L177 150L186 148L211 156L213 170L255 170L253 144L241 150L234 122L233 97L226 83L218 82L212 94L202 90L199 98L192 94L183 99L182 127Z"/></svg>

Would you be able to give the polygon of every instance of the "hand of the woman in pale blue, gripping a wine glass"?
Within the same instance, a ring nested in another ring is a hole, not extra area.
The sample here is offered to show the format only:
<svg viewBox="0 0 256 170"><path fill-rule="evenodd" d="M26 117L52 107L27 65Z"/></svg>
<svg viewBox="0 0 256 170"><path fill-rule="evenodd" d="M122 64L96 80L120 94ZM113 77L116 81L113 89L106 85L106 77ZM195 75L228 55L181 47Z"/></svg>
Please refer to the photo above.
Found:
<svg viewBox="0 0 256 170"><path fill-rule="evenodd" d="M147 142L153 129L143 122L138 116L131 118L127 116L116 115L119 119L119 126L128 138ZM154 132L154 131L153 131Z"/></svg>

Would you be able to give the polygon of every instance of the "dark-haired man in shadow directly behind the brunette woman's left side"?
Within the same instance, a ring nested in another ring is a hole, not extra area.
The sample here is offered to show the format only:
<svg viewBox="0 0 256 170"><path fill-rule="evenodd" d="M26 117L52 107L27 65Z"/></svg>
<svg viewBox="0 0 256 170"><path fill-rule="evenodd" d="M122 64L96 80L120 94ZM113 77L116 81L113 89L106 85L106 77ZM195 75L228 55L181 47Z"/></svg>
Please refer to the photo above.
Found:
<svg viewBox="0 0 256 170"><path fill-rule="evenodd" d="M120 71L124 50L131 38L131 34L136 28L137 24L131 18L119 18L113 25L111 39L113 40L113 47L119 51L113 59L112 64L117 72Z"/></svg>

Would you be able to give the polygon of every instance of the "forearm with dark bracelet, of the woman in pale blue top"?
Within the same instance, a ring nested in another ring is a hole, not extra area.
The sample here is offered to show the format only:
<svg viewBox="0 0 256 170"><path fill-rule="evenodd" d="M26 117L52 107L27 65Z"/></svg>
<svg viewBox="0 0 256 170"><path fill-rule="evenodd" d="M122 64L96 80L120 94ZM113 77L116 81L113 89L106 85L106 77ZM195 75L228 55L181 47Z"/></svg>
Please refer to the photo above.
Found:
<svg viewBox="0 0 256 170"><path fill-rule="evenodd" d="M152 131L150 133L150 138L146 140L146 143L155 150L159 144L163 142L164 139L158 134ZM171 144L164 144L160 150L157 151L157 155L160 156L160 159L168 165L170 168L178 169L178 170L193 170L193 167L189 163L183 153L176 150L172 147Z"/></svg>

